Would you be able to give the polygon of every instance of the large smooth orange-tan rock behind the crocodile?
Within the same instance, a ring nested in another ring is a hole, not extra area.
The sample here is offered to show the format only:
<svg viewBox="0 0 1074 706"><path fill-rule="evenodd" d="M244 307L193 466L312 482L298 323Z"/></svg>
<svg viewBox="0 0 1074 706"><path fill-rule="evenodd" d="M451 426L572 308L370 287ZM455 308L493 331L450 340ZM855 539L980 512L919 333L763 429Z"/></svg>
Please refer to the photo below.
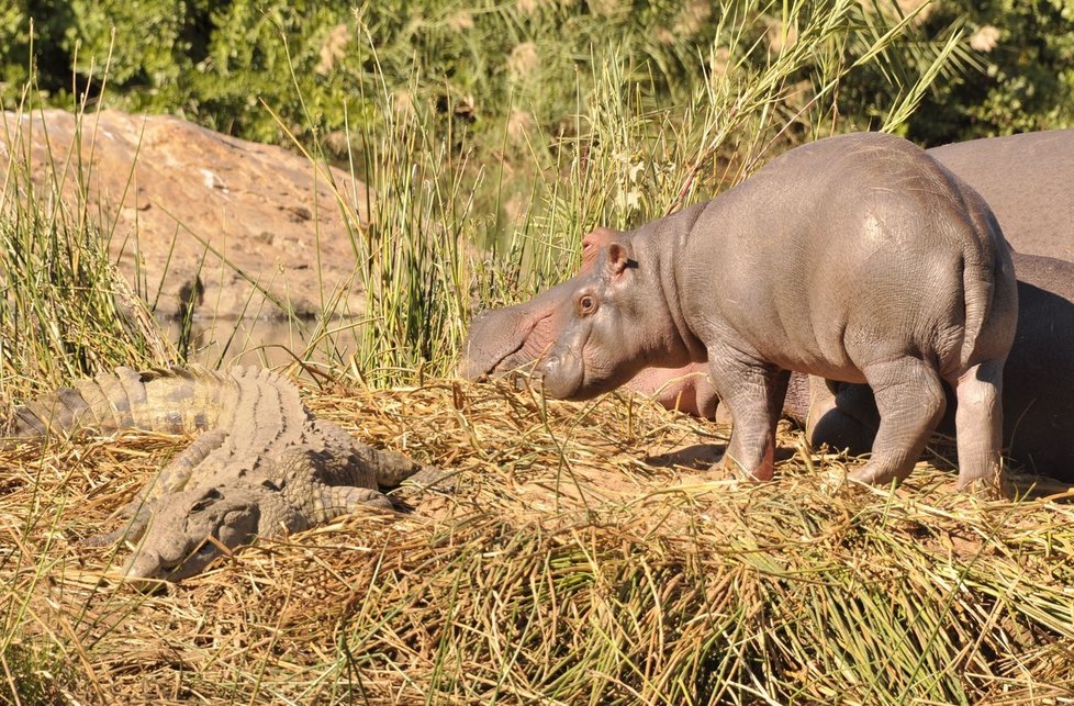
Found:
<svg viewBox="0 0 1074 706"><path fill-rule="evenodd" d="M343 170L168 115L46 110L3 120L0 181L12 157L29 165L38 194L55 173L74 211L80 169L87 213L112 233L120 271L157 299L158 315L175 316L198 279L198 317L281 315L249 280L299 313L320 312L335 288L345 292L338 313L363 310L348 220L366 222L366 188Z"/></svg>

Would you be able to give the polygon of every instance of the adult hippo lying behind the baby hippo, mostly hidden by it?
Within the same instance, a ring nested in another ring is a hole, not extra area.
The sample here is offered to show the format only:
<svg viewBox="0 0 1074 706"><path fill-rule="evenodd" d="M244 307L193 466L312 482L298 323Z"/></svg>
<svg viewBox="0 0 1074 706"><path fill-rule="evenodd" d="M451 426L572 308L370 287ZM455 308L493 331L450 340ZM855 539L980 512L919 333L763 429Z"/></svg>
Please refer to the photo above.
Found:
<svg viewBox="0 0 1074 706"><path fill-rule="evenodd" d="M1074 248L1074 130L977 139L929 150L938 161L986 194L1008 239L1026 253L1070 256ZM597 228L583 238L582 270L616 233ZM1074 480L1074 266L1015 255L1020 317L1006 366L1004 440L1029 469ZM473 322L463 372L495 374L532 367L557 332L549 317L557 288ZM669 408L714 418L718 407L707 363L659 365L627 388L655 395ZM866 385L838 385L795 373L784 414L806 426L809 440L868 451L875 404ZM810 402L812 412L810 414ZM953 432L953 421L941 424Z"/></svg>

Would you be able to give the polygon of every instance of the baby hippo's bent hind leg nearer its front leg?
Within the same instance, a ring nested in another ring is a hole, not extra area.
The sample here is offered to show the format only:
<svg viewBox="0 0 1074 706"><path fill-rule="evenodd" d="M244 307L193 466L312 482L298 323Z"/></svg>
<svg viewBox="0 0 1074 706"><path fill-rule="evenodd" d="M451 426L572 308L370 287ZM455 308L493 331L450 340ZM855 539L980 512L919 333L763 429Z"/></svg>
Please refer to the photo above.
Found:
<svg viewBox="0 0 1074 706"><path fill-rule="evenodd" d="M864 366L862 372L876 399L880 427L872 457L850 478L879 485L902 481L943 418L943 385L932 367L909 356Z"/></svg>

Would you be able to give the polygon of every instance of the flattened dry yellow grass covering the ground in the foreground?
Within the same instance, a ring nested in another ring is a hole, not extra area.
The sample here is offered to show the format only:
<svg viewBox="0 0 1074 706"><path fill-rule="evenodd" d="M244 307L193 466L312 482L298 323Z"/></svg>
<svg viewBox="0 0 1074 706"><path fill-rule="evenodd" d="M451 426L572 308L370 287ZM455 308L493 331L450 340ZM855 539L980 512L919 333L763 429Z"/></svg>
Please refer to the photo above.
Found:
<svg viewBox="0 0 1074 706"><path fill-rule="evenodd" d="M186 439L0 449L0 701L1072 696L1067 505L978 502L924 463L895 493L832 490L844 460L788 430L775 482L718 480L695 445L721 436L626 396L546 406L436 380L309 403L456 471L457 491L261 541L145 596L102 579L111 549L75 540Z"/></svg>

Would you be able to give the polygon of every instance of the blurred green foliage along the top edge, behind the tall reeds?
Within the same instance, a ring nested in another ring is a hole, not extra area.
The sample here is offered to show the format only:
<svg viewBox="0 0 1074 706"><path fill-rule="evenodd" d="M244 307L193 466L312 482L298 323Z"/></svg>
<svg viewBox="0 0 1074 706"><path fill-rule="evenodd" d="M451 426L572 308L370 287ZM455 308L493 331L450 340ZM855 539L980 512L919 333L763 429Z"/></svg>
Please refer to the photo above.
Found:
<svg viewBox="0 0 1074 706"><path fill-rule="evenodd" d="M698 58L716 38L724 12L717 3L673 0L4 4L0 97L5 107L29 80L33 55L36 80L53 104L72 107L87 85L91 93L100 90L107 67L113 107L178 113L273 143L287 143L287 131L313 143L315 135L334 135L348 122L376 120L368 97L378 90L371 77L379 75L400 100L430 101L479 133L501 131L512 111L522 109L555 135L570 127L577 93L590 88L586 69L613 46L638 74L628 78L646 78L655 98L682 100L702 78ZM873 4L875 10L885 3ZM754 23L759 61L771 49L771 31L783 11L772 3ZM964 23L967 32L960 60L908 123L910 137L937 144L1071 124L1074 0L939 0L922 18L916 38L898 49L903 60L892 64L911 66L919 45L952 26ZM971 47L975 36L993 29L994 47ZM363 48L369 46L377 47L376 55ZM840 88L840 104L844 113L868 121L894 91L888 77L863 71ZM258 108L259 100L283 126Z"/></svg>

